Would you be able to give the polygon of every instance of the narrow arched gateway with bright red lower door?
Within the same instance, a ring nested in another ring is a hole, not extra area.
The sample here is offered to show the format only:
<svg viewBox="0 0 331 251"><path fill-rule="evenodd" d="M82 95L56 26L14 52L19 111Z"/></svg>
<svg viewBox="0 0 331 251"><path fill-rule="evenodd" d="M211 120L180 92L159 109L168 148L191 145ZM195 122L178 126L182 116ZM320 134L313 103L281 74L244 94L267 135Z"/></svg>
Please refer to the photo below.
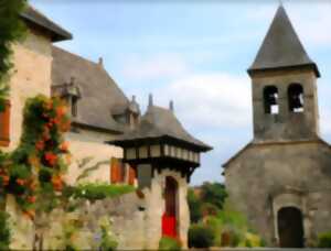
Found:
<svg viewBox="0 0 331 251"><path fill-rule="evenodd" d="M166 177L164 189L164 214L162 217L162 236L178 237L178 182L171 177Z"/></svg>

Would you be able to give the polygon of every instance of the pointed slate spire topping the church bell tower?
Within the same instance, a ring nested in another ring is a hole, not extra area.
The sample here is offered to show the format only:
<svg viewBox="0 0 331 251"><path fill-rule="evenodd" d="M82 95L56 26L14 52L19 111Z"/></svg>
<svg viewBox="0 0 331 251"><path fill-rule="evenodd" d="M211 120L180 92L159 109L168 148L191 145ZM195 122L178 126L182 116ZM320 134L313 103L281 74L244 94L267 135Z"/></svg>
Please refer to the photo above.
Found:
<svg viewBox="0 0 331 251"><path fill-rule="evenodd" d="M320 77L316 63L309 58L282 4L280 4L248 74L298 66L310 67Z"/></svg>

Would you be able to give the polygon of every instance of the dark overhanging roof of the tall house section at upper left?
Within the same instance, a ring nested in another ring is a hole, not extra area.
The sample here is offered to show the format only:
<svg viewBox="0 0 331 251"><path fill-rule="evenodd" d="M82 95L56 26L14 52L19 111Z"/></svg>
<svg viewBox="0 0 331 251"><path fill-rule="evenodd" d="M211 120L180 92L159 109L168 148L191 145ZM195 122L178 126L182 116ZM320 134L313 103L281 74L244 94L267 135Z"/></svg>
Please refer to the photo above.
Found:
<svg viewBox="0 0 331 251"><path fill-rule="evenodd" d="M53 42L73 39L73 35L68 31L54 23L52 20L50 20L47 17L45 17L31 6L28 6L26 10L21 13L21 18L40 26L43 30L49 31Z"/></svg>

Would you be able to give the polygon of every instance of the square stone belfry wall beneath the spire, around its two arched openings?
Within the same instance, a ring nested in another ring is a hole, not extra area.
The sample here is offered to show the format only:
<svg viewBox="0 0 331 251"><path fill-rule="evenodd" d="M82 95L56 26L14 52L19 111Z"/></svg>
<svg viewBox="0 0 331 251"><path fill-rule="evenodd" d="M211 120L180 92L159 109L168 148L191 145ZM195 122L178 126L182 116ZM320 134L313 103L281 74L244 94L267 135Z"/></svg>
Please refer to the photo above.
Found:
<svg viewBox="0 0 331 251"><path fill-rule="evenodd" d="M305 92L305 112L289 111L288 87L300 84ZM278 89L278 114L266 114L264 88L275 86ZM293 69L256 74L252 79L254 140L285 141L317 139L319 134L319 112L317 78L312 70Z"/></svg>

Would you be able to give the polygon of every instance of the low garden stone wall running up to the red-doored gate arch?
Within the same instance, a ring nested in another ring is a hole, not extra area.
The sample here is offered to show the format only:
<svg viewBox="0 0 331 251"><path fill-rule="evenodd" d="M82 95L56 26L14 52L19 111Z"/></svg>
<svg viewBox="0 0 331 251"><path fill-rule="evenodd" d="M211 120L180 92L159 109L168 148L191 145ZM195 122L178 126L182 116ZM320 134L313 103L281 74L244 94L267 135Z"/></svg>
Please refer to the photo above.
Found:
<svg viewBox="0 0 331 251"><path fill-rule="evenodd" d="M119 250L149 249L157 250L162 237L162 215L164 212L163 190L166 177L175 178L179 184L179 236L186 248L190 212L186 203L188 185L185 178L174 171L154 172L151 186L140 193L130 193L117 198L89 203L82 200L73 212L64 212L61 208L44 218L39 232L43 236L44 249L64 249L66 226L79 222L79 228L72 237L79 249L96 249L99 243L100 225L107 222L111 234L118 241ZM139 194L139 196L138 196ZM141 196L142 195L142 196ZM13 223L13 249L32 249L35 229L32 221L22 216L14 199L10 196L7 210ZM40 216L39 216L40 217Z"/></svg>

